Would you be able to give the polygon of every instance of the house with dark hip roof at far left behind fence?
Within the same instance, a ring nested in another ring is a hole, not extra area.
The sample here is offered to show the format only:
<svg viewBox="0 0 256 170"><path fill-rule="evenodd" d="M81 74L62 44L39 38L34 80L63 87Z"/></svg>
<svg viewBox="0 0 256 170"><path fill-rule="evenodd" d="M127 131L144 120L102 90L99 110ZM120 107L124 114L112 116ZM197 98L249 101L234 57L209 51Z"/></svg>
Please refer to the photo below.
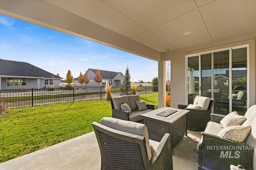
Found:
<svg viewBox="0 0 256 170"><path fill-rule="evenodd" d="M0 59L0 90L58 88L62 78L32 64Z"/></svg>

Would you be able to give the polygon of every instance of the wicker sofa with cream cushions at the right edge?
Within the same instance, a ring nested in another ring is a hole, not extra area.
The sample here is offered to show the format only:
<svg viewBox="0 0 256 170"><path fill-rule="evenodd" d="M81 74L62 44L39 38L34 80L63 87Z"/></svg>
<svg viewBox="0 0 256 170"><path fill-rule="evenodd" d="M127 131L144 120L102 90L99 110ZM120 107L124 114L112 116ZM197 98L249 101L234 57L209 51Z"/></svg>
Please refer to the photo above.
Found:
<svg viewBox="0 0 256 170"><path fill-rule="evenodd" d="M232 114L234 118L226 119ZM245 130L236 130L238 127L241 128L240 125L224 127L224 117L225 115L211 114L211 121L202 132L198 143L198 170L229 170L231 164L240 164L246 170L255 170L256 105L251 106L244 116L234 115L232 112L225 117L225 120L230 122L234 120L235 123L245 120L242 123L245 126L242 128ZM248 126L251 126L251 131L247 130ZM225 131L225 136L221 137L223 131ZM245 141L241 142L242 139Z"/></svg>

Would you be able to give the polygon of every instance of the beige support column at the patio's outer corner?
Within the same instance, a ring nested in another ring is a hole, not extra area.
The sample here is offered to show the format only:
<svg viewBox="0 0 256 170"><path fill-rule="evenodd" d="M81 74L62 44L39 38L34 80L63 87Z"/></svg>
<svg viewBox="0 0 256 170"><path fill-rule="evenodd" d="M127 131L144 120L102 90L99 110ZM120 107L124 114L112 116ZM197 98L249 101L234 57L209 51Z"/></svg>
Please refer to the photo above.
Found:
<svg viewBox="0 0 256 170"><path fill-rule="evenodd" d="M165 69L164 53L161 53L161 61L158 61L158 108L166 106Z"/></svg>

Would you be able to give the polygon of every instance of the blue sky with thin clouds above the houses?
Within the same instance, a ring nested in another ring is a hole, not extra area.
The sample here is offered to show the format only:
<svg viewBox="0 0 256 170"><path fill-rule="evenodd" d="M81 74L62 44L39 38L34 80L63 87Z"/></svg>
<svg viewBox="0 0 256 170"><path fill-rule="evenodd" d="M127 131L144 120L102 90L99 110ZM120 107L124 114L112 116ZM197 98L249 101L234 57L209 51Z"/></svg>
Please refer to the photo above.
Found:
<svg viewBox="0 0 256 170"><path fill-rule="evenodd" d="M74 78L88 68L122 72L131 80L152 81L158 62L92 41L0 15L0 58L33 64L53 74Z"/></svg>

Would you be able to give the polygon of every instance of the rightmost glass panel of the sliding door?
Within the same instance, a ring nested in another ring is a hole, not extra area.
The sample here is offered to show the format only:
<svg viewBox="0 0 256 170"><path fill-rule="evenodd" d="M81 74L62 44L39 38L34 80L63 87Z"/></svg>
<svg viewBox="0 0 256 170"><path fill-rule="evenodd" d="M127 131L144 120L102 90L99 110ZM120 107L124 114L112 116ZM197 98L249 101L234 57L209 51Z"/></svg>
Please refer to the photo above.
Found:
<svg viewBox="0 0 256 170"><path fill-rule="evenodd" d="M247 110L247 48L232 50L232 111Z"/></svg>

